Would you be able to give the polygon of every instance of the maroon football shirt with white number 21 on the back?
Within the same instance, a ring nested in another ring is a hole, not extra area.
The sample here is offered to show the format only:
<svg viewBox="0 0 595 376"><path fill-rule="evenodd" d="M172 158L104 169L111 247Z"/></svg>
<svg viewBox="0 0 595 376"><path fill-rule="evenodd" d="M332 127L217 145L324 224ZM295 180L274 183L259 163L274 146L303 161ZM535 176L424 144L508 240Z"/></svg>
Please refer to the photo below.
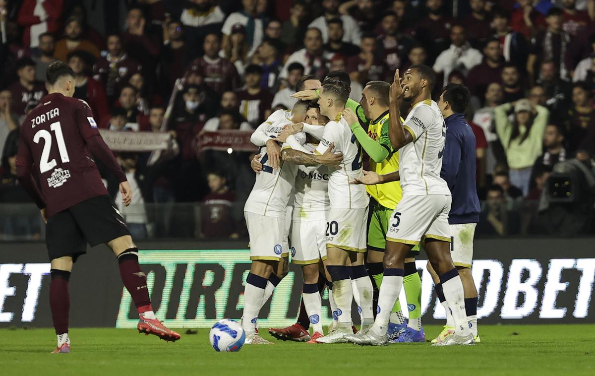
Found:
<svg viewBox="0 0 595 376"><path fill-rule="evenodd" d="M60 93L44 96L23 121L17 165L33 165L48 216L108 194L86 145L97 135L86 102Z"/></svg>

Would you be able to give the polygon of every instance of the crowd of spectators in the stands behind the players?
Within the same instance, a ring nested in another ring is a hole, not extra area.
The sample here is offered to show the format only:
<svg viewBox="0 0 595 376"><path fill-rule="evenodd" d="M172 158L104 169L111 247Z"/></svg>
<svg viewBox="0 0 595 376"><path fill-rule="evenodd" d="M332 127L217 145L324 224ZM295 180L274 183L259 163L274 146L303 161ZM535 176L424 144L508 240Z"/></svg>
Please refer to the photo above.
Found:
<svg viewBox="0 0 595 376"><path fill-rule="evenodd" d="M0 203L30 200L18 127L55 60L99 128L170 135L164 151L118 157L141 208L205 203L188 230L205 237L244 233L221 223L254 181L249 145L205 148L209 134L249 134L292 108L306 74L335 72L359 101L369 80L427 64L472 95L478 234L593 231L595 0L0 0L0 23ZM129 212L133 236L147 235L146 215ZM153 221L182 231L171 218Z"/></svg>

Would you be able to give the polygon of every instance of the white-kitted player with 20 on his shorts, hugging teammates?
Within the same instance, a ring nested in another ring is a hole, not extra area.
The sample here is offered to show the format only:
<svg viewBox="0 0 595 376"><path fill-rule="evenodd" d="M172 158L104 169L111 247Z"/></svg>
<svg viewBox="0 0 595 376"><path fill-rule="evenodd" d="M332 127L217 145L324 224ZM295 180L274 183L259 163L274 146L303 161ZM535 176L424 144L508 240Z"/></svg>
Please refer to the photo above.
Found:
<svg viewBox="0 0 595 376"><path fill-rule="evenodd" d="M330 209L327 217L327 271L333 282L333 298L337 305L336 329L317 340L318 343L345 343L343 336L352 333L351 304L353 290L347 260L352 265L364 264L366 251L366 221L369 198L363 186L350 186L349 181L362 177L361 146L353 136L349 124L342 119L341 112L349 97L349 87L336 81L324 84L318 104L322 115L334 119L324 127L324 134L316 153L327 153L334 145L334 150L343 153L343 162L339 169L332 170L328 181ZM292 161L308 165L315 158L309 153L294 151ZM363 280L363 278L362 278ZM371 325L372 282L367 278L368 286L358 286L359 305L362 309L362 327Z"/></svg>

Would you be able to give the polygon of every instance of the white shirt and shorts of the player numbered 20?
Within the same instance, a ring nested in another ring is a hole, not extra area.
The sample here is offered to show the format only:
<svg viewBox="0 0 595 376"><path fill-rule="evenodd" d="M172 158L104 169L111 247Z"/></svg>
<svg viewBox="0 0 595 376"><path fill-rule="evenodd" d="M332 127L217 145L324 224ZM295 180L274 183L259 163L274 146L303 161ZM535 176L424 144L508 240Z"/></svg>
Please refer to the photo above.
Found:
<svg viewBox="0 0 595 376"><path fill-rule="evenodd" d="M317 154L334 143L334 152L343 153L343 162L332 170L328 179L327 248L337 247L354 252L366 251L366 223L369 198L365 186L349 184L363 176L362 149L347 121L338 115L324 127Z"/></svg>

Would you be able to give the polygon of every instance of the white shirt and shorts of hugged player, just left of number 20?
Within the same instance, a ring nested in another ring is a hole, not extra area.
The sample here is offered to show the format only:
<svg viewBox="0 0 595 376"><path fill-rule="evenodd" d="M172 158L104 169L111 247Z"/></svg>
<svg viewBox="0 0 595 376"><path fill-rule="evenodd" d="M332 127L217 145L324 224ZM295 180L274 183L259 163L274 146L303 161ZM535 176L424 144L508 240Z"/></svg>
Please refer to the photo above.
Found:
<svg viewBox="0 0 595 376"><path fill-rule="evenodd" d="M306 143L302 152L314 153L316 145ZM295 202L292 219L292 262L315 264L327 258L326 225L328 211L328 167L299 166L295 178Z"/></svg>

